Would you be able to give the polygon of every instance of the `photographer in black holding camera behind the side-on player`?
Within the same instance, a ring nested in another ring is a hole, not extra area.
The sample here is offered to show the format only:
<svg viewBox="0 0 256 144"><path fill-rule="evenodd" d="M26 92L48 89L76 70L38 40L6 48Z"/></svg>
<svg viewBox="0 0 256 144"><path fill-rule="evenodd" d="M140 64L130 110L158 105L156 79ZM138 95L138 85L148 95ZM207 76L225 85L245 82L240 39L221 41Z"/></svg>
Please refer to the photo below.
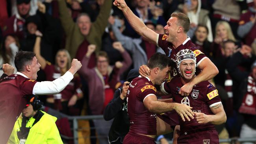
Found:
<svg viewBox="0 0 256 144"><path fill-rule="evenodd" d="M126 92L132 79L139 76L138 71L139 70L137 69L130 70L126 82L124 82L124 85L121 88L115 90L113 100L111 100L104 109L105 120L114 118L108 133L108 141L110 144L122 144L124 136L129 131L130 124L126 107Z"/></svg>

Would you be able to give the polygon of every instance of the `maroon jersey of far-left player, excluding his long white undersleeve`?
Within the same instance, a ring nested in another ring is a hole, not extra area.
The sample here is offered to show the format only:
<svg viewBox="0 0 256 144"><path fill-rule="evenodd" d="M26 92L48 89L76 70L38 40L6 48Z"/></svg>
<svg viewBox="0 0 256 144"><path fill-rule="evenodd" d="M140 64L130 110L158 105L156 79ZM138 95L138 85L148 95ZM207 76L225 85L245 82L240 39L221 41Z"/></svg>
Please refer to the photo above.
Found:
<svg viewBox="0 0 256 144"><path fill-rule="evenodd" d="M26 106L26 95L33 94L35 80L12 74L0 81L0 139L7 143L16 119Z"/></svg>

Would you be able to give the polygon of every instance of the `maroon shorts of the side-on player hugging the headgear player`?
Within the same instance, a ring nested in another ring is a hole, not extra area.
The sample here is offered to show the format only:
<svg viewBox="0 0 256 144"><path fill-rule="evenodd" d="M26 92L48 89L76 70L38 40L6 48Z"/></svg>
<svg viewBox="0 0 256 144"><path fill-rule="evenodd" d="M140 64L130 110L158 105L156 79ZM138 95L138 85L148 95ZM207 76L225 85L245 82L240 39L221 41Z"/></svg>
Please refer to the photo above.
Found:
<svg viewBox="0 0 256 144"><path fill-rule="evenodd" d="M124 137L123 144L156 144L154 138L145 135L128 132Z"/></svg>

